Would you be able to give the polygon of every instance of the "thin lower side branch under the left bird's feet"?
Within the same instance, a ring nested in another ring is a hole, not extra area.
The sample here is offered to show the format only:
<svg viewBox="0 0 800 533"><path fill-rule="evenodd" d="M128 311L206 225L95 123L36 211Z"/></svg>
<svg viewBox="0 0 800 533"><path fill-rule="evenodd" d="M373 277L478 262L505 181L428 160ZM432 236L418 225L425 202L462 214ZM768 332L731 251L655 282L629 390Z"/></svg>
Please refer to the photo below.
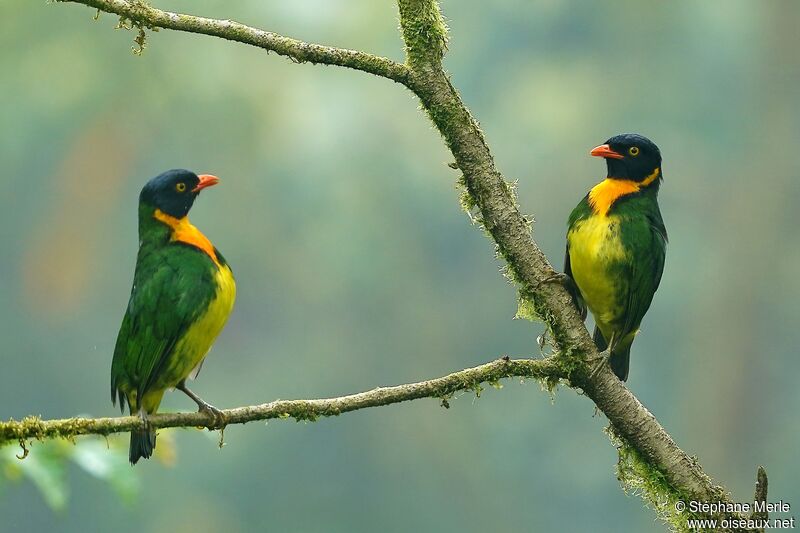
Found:
<svg viewBox="0 0 800 533"><path fill-rule="evenodd" d="M453 372L447 376L397 385L379 387L358 394L320 400L276 400L261 405L237 407L222 411L225 425L246 424L257 420L294 418L316 420L327 416L338 416L368 407L380 407L420 398L440 398L448 407L447 399L459 391L472 390L479 393L482 383L496 384L504 378L535 378L550 383L562 377L561 369L552 359L509 359L504 357L491 363ZM168 413L150 417L154 428L204 426L215 429L214 416L210 413ZM15 441L48 438L73 438L77 435L109 435L142 427L136 416L117 418L65 418L41 420L28 417L21 421L0 422L0 446Z"/></svg>

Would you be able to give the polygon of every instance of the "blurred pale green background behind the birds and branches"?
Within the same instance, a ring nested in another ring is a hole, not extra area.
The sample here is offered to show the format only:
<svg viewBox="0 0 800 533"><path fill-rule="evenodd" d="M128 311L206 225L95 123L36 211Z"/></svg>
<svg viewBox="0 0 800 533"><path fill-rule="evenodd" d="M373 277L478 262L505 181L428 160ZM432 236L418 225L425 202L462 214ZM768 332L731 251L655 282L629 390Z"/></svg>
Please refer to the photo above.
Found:
<svg viewBox="0 0 800 533"><path fill-rule="evenodd" d="M388 0L154 3L402 60ZM605 175L588 150L625 131L659 144L670 245L629 386L736 500L763 464L770 499L800 508L800 3L443 10L446 66L556 266L567 215ZM541 326L512 320L514 289L402 87L170 31L136 57L133 32L77 5L5 0L2 14L0 419L115 413L137 195L173 167L223 179L192 212L239 286L194 387L217 406L538 353ZM169 457L136 467L137 497L70 463L60 510L0 481L3 528L663 530L620 490L587 399L513 380L450 403L231 427L222 450L216 434L162 432ZM171 394L163 408L193 405Z"/></svg>

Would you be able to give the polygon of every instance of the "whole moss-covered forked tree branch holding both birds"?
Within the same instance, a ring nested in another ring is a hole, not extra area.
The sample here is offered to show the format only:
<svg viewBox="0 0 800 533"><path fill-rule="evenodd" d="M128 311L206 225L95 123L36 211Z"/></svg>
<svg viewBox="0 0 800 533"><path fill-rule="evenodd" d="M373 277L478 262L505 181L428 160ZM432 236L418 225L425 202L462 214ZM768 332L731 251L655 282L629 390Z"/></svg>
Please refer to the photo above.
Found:
<svg viewBox="0 0 800 533"><path fill-rule="evenodd" d="M119 15L139 27L140 36L145 28L168 28L179 31L202 33L224 39L242 42L274 51L287 56L296 62L312 62L328 65L344 66L385 77L408 87L419 97L423 108L444 138L455 158L455 166L462 173L461 183L466 190L466 204L478 211L478 220L497 245L499 254L508 264L508 272L519 288L521 305L531 314L539 317L548 327L554 339L557 353L545 363L535 364L537 372L548 368L547 375L537 375L552 382L563 379L570 387L582 390L591 398L597 407L611 422L613 440L620 447L620 477L636 475L641 480L640 486L645 490L666 492L667 497L678 499L694 499L700 501L729 502L727 492L716 486L705 474L698 462L682 451L658 423L653 415L622 384L607 366L592 372L591 367L598 359L598 353L586 327L572 305L564 288L552 282L557 279L556 272L542 251L531 238L531 224L518 209L513 187L506 182L495 167L489 147L477 122L472 118L462 102L458 92L450 83L442 66L442 59L447 50L447 27L444 23L439 5L435 0L398 0L400 25L406 50L405 64L395 63L352 50L330 48L303 43L274 33L244 26L232 21L222 21L169 13L150 7L142 0L58 0L69 1L98 10ZM138 41L137 41L138 42ZM515 361L513 365L523 362ZM509 363L490 363L508 368ZM486 366L486 365L484 365ZM478 369L484 367L478 367ZM522 367L521 367L522 368ZM470 369L463 372L474 372ZM532 368L526 372L532 371ZM452 374L457 376L460 373ZM488 374L487 374L488 375ZM504 374L499 377L507 377ZM528 375L528 374L525 374ZM447 380L439 378L439 380ZM473 376L471 383L479 376ZM437 380L433 380L437 381ZM457 379L456 379L457 381ZM360 395L354 395L348 401L359 402L368 398L363 407L386 405L405 399L424 396L438 396L442 390L426 388L425 383L400 386L392 389L378 389ZM448 382L451 383L451 382ZM452 383L451 383L452 384ZM403 387L411 387L405 390ZM421 387L421 388L420 388ZM461 387L470 388L470 387ZM391 401L379 400L378 391L392 390ZM422 394L426 390L430 394ZM453 390L459 390L458 388ZM420 395L421 394L421 395ZM371 396L372 395L372 396ZM407 397L406 397L407 396ZM296 402L273 402L258 406L265 409L269 416L280 416L288 413L300 418L327 416L344 412L342 399L309 400ZM376 401L377 403L369 403ZM322 403L320 403L322 402ZM326 403L327 402L327 403ZM382 403L383 402L383 403ZM270 407L272 406L272 407ZM362 407L355 407L362 408ZM253 408L233 409L227 413L231 421L247 421ZM337 410L338 409L338 410ZM263 414L263 413L262 413ZM261 415L258 415L261 416ZM175 418L178 417L178 418ZM244 418L242 418L244 417ZM115 431L127 431L137 427L135 418L100 419L110 426L100 426L102 431L90 429L84 433L107 432L114 427ZM115 422L114 422L115 421ZM33 424L32 436L48 436L48 428L58 428L59 424L67 430L69 421L37 422L41 429ZM99 421L98 421L99 422ZM159 415L153 418L156 427L173 425L208 425L212 421L201 414ZM92 428L90 420L85 421L86 428ZM233 423L233 422L231 422ZM52 426L48 426L51 424ZM13 438L13 428L18 426L0 426L0 438ZM5 431L6 433L3 433ZM55 435L57 429L53 429ZM73 434L73 433L70 433ZM5 435L5 437L3 437ZM766 477L764 476L764 479ZM655 487L655 488L654 488ZM766 482L763 483L764 491ZM654 494L653 498L662 498L663 494ZM763 495L766 497L766 494ZM662 509L663 511L663 509ZM665 511L668 513L668 511ZM676 516L673 519L676 527L681 524ZM685 528L685 523L683 528Z"/></svg>

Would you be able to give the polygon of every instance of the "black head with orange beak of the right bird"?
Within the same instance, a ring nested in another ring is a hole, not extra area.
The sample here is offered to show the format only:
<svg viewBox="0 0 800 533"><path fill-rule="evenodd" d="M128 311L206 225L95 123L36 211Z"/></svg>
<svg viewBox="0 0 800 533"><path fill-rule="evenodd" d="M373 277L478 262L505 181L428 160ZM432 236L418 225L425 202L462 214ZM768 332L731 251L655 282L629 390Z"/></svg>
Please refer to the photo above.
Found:
<svg viewBox="0 0 800 533"><path fill-rule="evenodd" d="M661 151L653 141L637 133L611 137L589 153L606 159L610 179L647 182L649 185L656 178L660 180L663 177Z"/></svg>

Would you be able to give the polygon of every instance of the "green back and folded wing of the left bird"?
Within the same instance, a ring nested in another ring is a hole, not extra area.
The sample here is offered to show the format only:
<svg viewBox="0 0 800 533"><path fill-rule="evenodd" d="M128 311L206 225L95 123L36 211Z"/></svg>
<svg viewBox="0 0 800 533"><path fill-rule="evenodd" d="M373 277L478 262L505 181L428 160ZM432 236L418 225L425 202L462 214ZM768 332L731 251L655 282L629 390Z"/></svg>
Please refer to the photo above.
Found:
<svg viewBox="0 0 800 533"><path fill-rule="evenodd" d="M169 368L176 343L216 293L215 268L208 256L182 243L140 250L111 363L111 399L119 399L123 410L127 399L135 411L130 394L139 403Z"/></svg>

